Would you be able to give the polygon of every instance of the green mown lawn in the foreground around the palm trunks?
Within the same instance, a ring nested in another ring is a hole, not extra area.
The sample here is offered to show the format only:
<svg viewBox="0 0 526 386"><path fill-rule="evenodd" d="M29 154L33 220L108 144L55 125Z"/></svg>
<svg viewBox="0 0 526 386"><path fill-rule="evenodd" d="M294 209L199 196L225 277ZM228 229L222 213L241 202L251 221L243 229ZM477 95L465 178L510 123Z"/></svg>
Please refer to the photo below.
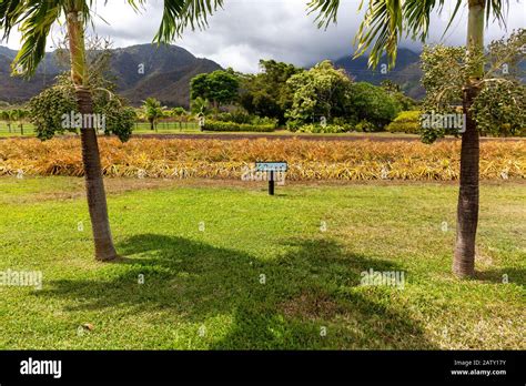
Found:
<svg viewBox="0 0 526 386"><path fill-rule="evenodd" d="M104 264L82 180L0 179L0 271L43 273L0 286L0 348L526 348L524 182L483 185L468 281L454 184L107 185L124 257ZM404 288L360 285L370 268Z"/></svg>

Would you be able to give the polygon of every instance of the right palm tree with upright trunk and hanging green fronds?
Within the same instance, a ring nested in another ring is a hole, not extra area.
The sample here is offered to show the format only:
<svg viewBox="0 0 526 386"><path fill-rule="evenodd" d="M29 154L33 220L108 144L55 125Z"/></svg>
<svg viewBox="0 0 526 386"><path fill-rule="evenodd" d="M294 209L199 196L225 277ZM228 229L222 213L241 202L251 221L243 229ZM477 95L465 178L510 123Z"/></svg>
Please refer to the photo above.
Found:
<svg viewBox="0 0 526 386"><path fill-rule="evenodd" d="M362 55L371 49L368 62L371 67L376 67L384 51L391 59L390 65L395 63L398 42L404 33L425 41L429 31L431 13L442 12L446 0L362 0L361 9L365 2L368 6L355 38L355 55ZM485 22L492 16L505 22L508 0L457 0L447 28L463 4L468 9L466 59L469 64L475 63L477 52L484 51ZM318 12L318 27L327 27L336 21L338 6L340 0L311 1L311 11ZM478 224L479 133L471 106L481 91L484 64L471 68L472 74L463 91L466 131L462 136L457 234L453 260L453 272L461 277L473 276L475 273L475 238Z"/></svg>

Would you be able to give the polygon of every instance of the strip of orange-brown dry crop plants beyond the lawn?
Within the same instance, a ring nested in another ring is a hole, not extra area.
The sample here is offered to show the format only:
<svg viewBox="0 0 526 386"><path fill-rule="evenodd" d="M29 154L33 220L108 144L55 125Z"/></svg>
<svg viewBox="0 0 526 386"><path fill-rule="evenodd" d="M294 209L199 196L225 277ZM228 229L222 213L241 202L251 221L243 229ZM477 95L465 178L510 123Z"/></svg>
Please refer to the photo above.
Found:
<svg viewBox="0 0 526 386"><path fill-rule="evenodd" d="M315 180L458 179L459 141L433 145L419 142L337 142L291 140L156 140L100 139L107 176L241 179L257 160L287 161L286 177ZM481 144L481 177L524 179L525 141ZM0 175L81 176L80 141L55 139L0 141Z"/></svg>

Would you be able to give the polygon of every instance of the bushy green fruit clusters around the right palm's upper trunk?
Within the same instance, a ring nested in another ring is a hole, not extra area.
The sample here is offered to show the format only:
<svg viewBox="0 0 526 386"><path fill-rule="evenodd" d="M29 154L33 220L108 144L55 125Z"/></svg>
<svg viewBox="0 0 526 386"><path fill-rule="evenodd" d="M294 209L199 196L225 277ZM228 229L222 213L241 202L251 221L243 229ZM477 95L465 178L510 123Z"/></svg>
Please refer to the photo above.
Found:
<svg viewBox="0 0 526 386"><path fill-rule="evenodd" d="M522 73L522 55L526 30L513 31L509 37L493 41L488 47L473 55L466 55L464 47L425 47L422 53L422 85L426 91L422 110L438 114L455 113L454 106L464 99L466 80L473 75L473 69L487 63L487 72L478 82L471 106L481 135L508 136L523 135L526 128L526 87ZM473 58L473 63L466 63ZM506 58L504 60L503 58ZM506 62L507 71L502 71ZM456 111L463 114L463 112ZM422 140L432 143L445 135L461 136L455 126L435 128L423 125Z"/></svg>

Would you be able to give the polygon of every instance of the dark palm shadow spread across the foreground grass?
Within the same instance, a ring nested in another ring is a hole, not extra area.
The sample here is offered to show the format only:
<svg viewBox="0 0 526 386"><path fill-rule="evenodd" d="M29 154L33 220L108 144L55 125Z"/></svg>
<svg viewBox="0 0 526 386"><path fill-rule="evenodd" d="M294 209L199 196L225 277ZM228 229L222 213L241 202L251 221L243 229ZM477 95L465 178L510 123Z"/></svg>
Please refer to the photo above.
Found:
<svg viewBox="0 0 526 386"><path fill-rule="evenodd" d="M358 287L363 271L399 267L332 241L291 240L285 254L265 261L156 234L135 235L119 251L129 257L101 278L54 281L37 296L71 299L70 312L140 314L166 328L227 315L226 335L210 348L434 348L399 290Z"/></svg>

